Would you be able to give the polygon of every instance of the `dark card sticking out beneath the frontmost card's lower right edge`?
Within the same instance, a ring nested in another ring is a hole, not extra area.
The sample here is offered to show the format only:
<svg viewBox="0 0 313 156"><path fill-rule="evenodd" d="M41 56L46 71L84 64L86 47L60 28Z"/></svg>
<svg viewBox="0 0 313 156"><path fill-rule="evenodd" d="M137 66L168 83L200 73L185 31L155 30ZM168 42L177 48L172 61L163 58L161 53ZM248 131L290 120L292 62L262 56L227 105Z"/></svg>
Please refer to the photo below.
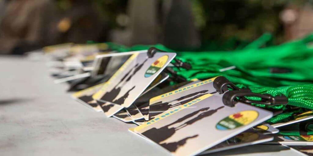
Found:
<svg viewBox="0 0 313 156"><path fill-rule="evenodd" d="M235 149L239 147L249 146L253 144L260 144L268 141L272 141L273 136L264 135L262 133L255 133L252 130L244 131L226 141L200 153L199 155L209 154L213 152L224 151L228 149Z"/></svg>

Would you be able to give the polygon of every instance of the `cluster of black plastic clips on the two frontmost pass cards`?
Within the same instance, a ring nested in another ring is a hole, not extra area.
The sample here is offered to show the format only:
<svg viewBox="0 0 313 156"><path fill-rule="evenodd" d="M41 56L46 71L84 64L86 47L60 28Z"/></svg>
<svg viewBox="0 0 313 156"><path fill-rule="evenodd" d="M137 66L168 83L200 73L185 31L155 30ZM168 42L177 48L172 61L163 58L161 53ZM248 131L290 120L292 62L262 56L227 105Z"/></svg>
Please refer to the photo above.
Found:
<svg viewBox="0 0 313 156"><path fill-rule="evenodd" d="M239 102L247 104L264 104L264 105L286 105L288 98L285 95L272 96L269 94L257 94L249 89L239 89L236 85L226 79L224 76L218 76L213 81L213 87L219 94L223 95L223 103L229 107L234 107ZM258 97L261 100L249 100L246 97Z"/></svg>

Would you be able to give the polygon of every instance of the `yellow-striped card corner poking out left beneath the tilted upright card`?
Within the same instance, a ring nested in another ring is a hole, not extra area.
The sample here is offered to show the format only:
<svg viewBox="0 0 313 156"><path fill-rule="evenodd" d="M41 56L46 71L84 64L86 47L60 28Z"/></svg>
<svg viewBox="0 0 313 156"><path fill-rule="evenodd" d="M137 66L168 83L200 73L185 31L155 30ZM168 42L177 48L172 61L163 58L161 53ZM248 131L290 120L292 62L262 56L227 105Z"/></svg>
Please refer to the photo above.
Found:
<svg viewBox="0 0 313 156"><path fill-rule="evenodd" d="M103 110L101 109L101 107L97 104L97 101L94 100L92 98L92 95L95 94L98 90L100 90L100 88L102 87L102 85L104 85L105 83L101 83L99 85L95 85L89 88L86 88L84 90L80 90L78 92L75 92L72 97L75 100L78 100L80 103L92 108L93 110L97 111L97 112L102 112Z"/></svg>

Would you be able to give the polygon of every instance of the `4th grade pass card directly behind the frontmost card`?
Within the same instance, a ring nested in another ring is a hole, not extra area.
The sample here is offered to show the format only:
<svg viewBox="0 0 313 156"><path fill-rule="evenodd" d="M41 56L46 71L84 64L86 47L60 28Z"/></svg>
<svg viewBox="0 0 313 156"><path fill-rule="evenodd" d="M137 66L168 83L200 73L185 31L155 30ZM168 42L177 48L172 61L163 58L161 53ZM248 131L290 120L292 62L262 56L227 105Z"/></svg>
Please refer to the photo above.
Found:
<svg viewBox="0 0 313 156"><path fill-rule="evenodd" d="M173 110L202 95L210 93L221 96L213 87L214 80L215 77L151 98L149 120L153 119L156 115L168 110Z"/></svg>

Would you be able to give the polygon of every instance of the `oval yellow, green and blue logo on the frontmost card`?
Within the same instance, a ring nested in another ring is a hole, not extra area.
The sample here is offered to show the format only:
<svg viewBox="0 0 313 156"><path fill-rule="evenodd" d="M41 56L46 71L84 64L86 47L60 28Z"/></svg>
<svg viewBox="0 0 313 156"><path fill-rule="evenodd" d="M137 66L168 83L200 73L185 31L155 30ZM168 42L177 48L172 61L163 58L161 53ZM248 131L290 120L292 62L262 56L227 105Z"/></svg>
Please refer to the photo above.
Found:
<svg viewBox="0 0 313 156"><path fill-rule="evenodd" d="M243 125L250 124L256 118L258 118L259 113L255 110L245 110L222 119L216 124L216 129L228 130L235 129Z"/></svg>

